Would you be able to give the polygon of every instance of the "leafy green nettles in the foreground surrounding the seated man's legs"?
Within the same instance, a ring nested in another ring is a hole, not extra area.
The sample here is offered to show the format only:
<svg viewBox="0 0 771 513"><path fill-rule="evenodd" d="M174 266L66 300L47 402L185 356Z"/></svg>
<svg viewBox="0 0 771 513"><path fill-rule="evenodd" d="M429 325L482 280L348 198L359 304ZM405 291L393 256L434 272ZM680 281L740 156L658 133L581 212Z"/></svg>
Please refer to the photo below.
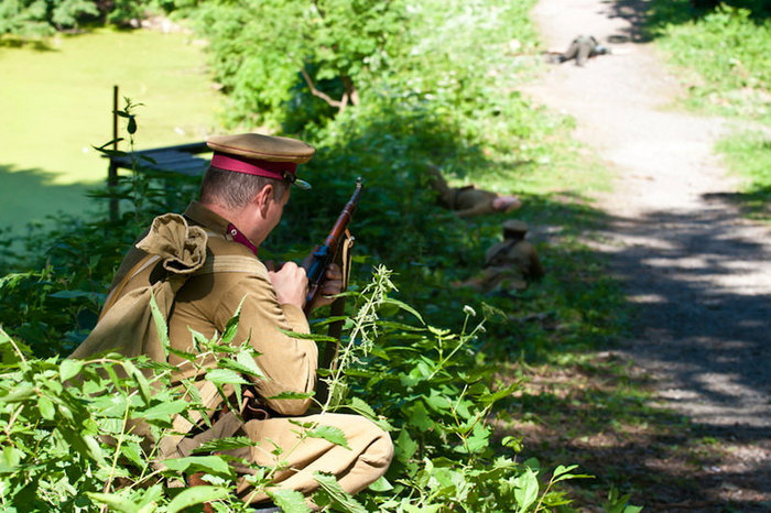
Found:
<svg viewBox="0 0 771 513"><path fill-rule="evenodd" d="M423 324L417 312L390 296L393 292L390 272L378 268L363 290L346 293L355 313L345 319L335 370L322 372L329 393L317 410L352 411L390 430L394 461L356 499L334 477L316 472L314 502L323 511L345 512L542 511L566 504L552 485L583 477L571 473L574 467L558 467L546 479L536 462L517 461L518 440L504 438L493 447L491 408L517 385L490 390L491 370L475 350L482 332L481 324L471 326L476 314L467 307L466 325L453 334ZM416 319L416 326L402 317ZM249 383L245 378L262 373L253 349L232 343L238 320L237 313L211 339L194 332L196 352L176 354L205 373L222 397L240 400ZM333 320L318 323L316 330ZM155 321L165 334L163 318L156 315ZM164 343L169 348L167 339ZM173 436L177 415L207 419L192 382L172 386L175 367L119 354L31 358L2 330L0 356L4 511L176 512L200 511L204 503L218 512L248 511L235 493L238 479L248 479L254 493L265 492L284 511L310 511L298 492L271 487L283 469L278 451L273 467L222 454L259 441L235 436L207 443L186 458L158 460L152 440ZM207 358L216 367L205 367ZM302 437L347 445L339 429L312 423L298 423L297 429ZM254 473L238 476L232 463ZM187 487L193 473L203 473L207 484Z"/></svg>

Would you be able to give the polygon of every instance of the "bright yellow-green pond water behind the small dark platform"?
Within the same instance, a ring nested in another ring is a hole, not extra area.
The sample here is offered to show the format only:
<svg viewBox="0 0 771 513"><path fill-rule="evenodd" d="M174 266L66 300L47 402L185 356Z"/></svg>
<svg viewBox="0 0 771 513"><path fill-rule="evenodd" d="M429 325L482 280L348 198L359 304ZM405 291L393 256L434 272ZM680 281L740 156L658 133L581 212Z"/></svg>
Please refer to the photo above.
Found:
<svg viewBox="0 0 771 513"><path fill-rule="evenodd" d="M96 208L84 193L107 175L91 146L112 139L115 85L119 108L123 97L143 103L138 149L218 131L204 44L189 33L99 30L44 50L0 47L0 227Z"/></svg>

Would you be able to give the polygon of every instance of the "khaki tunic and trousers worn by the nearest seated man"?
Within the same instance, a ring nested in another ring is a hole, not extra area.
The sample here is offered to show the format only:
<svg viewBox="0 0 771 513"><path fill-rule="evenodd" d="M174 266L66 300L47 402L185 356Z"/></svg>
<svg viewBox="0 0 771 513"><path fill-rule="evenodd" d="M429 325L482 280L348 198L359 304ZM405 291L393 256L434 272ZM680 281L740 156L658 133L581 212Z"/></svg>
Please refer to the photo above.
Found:
<svg viewBox="0 0 771 513"><path fill-rule="evenodd" d="M227 262L228 259L248 259L251 265L249 270L234 265L230 272L193 275L185 282L176 294L169 317L172 347L193 352L191 329L208 338L215 332L221 334L240 305L240 323L235 343L241 343L248 338L249 343L261 353L256 361L268 379L252 380L263 404L280 415L304 414L311 405L310 399L269 397L282 392L308 393L315 388L318 358L316 343L313 340L292 338L279 329L307 334L310 329L305 315L296 306L279 304L268 270L249 248L230 239L227 234L226 219L195 201L185 211L185 217L188 222L207 230L207 265L218 261ZM144 255L144 252L135 248L129 251L116 274L113 286L120 283ZM135 275L123 293L146 284L153 272L153 269L148 269ZM184 360L170 356L170 362L182 367ZM176 375L177 379L191 376L192 372L184 369ZM176 449L162 449L163 456L187 456L199 443L217 437L218 434L246 435L261 445L247 448L238 456L263 466L276 463L276 458L286 463L287 470L280 472L274 479L280 487L311 492L317 488L312 473L321 470L334 473L346 491L355 493L381 477L388 470L393 455L389 435L357 415L322 414L297 418L302 422L318 422L321 425L339 427L351 449L318 438L308 438L297 444L298 438L294 432L297 432L298 427L291 424L290 417L249 421L246 424L234 419L231 414L226 417L225 424L229 426L218 423L215 429L185 438L178 445L175 440ZM234 425L234 422L238 422L238 425ZM271 441L268 441L269 439ZM273 443L284 449L280 457L271 454ZM238 491L250 502L265 499L265 495L252 494L243 481Z"/></svg>

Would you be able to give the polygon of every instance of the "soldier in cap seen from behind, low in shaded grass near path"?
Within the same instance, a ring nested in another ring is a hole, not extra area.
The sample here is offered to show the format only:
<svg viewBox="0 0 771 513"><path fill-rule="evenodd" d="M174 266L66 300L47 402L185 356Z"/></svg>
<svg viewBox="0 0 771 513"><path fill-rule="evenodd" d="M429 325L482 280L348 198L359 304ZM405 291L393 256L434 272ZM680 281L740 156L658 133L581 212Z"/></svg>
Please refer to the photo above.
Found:
<svg viewBox="0 0 771 513"><path fill-rule="evenodd" d="M528 225L509 219L503 222L503 240L490 247L485 254L485 269L460 286L490 293L523 291L528 281L540 280L545 271L535 247L524 240Z"/></svg>

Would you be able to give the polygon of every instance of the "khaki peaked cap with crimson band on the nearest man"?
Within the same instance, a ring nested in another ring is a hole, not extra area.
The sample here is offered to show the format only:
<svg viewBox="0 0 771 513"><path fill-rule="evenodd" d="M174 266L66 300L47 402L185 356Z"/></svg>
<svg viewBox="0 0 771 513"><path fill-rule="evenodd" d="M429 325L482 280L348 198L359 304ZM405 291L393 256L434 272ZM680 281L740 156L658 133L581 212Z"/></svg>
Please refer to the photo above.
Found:
<svg viewBox="0 0 771 513"><path fill-rule="evenodd" d="M213 137L206 144L214 150L211 166L218 170L284 179L301 188L311 184L297 179L297 164L311 160L315 150L296 139L241 133Z"/></svg>

